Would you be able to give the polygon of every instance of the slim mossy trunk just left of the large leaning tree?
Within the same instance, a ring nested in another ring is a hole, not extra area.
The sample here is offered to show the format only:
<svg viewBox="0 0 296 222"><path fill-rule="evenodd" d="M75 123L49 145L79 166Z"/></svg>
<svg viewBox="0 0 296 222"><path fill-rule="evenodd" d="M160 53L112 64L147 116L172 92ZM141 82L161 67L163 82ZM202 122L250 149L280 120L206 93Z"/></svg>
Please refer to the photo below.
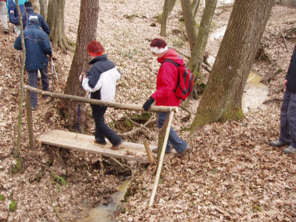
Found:
<svg viewBox="0 0 296 222"><path fill-rule="evenodd" d="M193 51L191 52L191 58L189 60L188 67L194 75L194 88L192 91L192 96L194 98L198 97L199 87L203 81L203 75L201 71L201 64L204 57L204 49L208 42L208 35L210 31L210 26L213 18L213 14L216 9L217 0L206 0L206 6L204 8L204 14L201 18L197 39Z"/></svg>

